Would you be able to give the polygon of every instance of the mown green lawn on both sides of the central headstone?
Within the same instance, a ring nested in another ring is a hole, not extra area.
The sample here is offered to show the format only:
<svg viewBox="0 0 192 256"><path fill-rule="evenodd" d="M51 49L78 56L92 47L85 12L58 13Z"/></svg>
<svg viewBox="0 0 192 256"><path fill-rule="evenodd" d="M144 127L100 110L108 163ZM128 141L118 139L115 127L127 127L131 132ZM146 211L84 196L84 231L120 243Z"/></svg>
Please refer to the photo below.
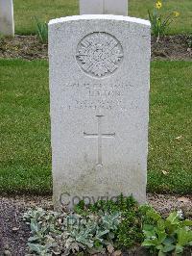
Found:
<svg viewBox="0 0 192 256"><path fill-rule="evenodd" d="M154 62L148 191L192 192L192 63ZM50 193L48 64L0 61L0 192Z"/></svg>

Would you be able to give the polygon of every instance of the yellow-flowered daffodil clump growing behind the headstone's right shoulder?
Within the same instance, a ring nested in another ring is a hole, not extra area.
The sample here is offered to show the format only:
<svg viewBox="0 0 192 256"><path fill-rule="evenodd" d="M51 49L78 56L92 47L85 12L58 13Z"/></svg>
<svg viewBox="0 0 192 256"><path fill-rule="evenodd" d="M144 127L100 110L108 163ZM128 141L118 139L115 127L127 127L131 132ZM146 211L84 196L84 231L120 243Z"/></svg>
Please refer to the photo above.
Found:
<svg viewBox="0 0 192 256"><path fill-rule="evenodd" d="M176 17L180 15L178 12L169 13L164 16L160 13L162 8L162 2L157 1L153 12L148 10L149 19L152 25L152 34L156 37L156 42L161 36L164 36L169 25L174 21Z"/></svg>

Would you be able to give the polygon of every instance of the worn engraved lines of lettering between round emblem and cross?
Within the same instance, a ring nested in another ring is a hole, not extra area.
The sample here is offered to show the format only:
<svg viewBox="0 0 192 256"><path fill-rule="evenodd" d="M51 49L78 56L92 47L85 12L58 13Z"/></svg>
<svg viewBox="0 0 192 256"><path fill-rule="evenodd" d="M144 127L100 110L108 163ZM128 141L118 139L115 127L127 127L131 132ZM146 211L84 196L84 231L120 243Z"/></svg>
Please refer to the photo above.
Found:
<svg viewBox="0 0 192 256"><path fill-rule="evenodd" d="M65 108L73 109L106 109L112 110L119 107L126 109L125 102L128 101L127 95L135 86L132 84L65 84L62 92L67 98Z"/></svg>

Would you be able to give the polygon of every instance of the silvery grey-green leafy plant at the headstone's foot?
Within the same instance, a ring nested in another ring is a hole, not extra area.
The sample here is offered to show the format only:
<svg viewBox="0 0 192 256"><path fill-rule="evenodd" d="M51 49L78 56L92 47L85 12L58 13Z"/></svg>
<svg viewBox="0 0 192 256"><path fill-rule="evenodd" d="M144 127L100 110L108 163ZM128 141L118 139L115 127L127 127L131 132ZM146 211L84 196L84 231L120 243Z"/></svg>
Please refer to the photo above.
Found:
<svg viewBox="0 0 192 256"><path fill-rule="evenodd" d="M89 215L56 213L42 209L24 214L32 236L28 240L30 252L37 255L70 255L81 251L105 252L113 245L115 231L121 221L119 213Z"/></svg>

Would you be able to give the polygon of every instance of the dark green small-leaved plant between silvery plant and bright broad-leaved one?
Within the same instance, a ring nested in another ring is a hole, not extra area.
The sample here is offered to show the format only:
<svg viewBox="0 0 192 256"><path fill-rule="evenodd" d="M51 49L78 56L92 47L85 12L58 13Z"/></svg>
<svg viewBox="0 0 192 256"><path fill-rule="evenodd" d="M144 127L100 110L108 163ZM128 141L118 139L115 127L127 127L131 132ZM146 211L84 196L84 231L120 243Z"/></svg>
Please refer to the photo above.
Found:
<svg viewBox="0 0 192 256"><path fill-rule="evenodd" d="M143 241L141 215L138 204L132 196L125 197L121 194L115 201L100 200L93 205L85 205L84 201L81 201L75 207L75 211L84 216L90 213L97 215L100 212L110 214L119 212L122 219L115 232L115 246L132 247Z"/></svg>

